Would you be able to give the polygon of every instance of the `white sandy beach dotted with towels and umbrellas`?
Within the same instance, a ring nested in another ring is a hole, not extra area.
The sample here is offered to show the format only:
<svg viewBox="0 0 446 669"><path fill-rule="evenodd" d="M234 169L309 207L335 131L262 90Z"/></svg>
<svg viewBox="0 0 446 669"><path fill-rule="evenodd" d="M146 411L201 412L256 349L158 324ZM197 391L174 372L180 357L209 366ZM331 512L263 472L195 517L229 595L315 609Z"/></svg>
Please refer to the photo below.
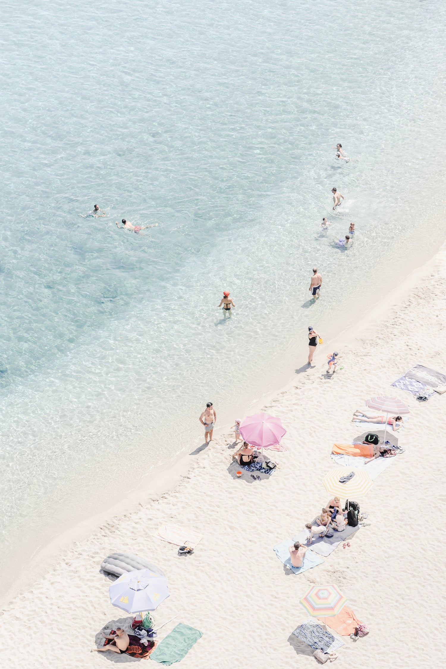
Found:
<svg viewBox="0 0 446 669"><path fill-rule="evenodd" d="M312 649L292 632L308 618L300 597L310 585L324 583L337 585L370 627L357 642L342 638L336 667L443 665L446 395L419 403L391 383L417 363L446 371L445 314L443 251L358 326L318 347L316 367L307 371L305 359L296 361L294 381L258 407L280 416L288 429L288 450L272 454L280 469L268 480L233 479L227 471L233 434L226 430L208 448L186 456L176 473L164 475L171 476L170 490L138 492L138 508L114 508L62 557L47 551L46 566L31 565L15 583L15 597L3 605L2 668L138 662L90 653L102 629L132 619L110 605L110 580L100 573L102 559L115 551L139 555L166 573L171 596L154 616L157 624L178 617L160 630L160 639L177 622L203 632L181 662L184 669L316 667ZM344 369L326 379L326 355L334 349ZM340 545L324 564L295 575L273 546L296 535L326 504L330 496L322 478L335 466L332 444L351 442L363 431L350 422L352 412L374 395L393 395L409 405L409 421L398 434L406 452L358 500L370 526L350 539L350 548ZM163 522L204 535L194 555L179 557L177 547L152 537Z"/></svg>

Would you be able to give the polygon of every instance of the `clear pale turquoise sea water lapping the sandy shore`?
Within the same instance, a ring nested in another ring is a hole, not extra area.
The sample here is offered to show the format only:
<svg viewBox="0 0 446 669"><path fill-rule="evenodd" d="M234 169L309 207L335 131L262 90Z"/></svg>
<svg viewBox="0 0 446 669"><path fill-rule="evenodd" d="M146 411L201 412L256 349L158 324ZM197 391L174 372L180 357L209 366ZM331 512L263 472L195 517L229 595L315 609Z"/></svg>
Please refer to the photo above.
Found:
<svg viewBox="0 0 446 669"><path fill-rule="evenodd" d="M308 324L329 340L435 252L446 7L5 0L2 17L0 549L18 567L200 444L206 401L243 417L304 364ZM95 203L108 217L82 218Z"/></svg>

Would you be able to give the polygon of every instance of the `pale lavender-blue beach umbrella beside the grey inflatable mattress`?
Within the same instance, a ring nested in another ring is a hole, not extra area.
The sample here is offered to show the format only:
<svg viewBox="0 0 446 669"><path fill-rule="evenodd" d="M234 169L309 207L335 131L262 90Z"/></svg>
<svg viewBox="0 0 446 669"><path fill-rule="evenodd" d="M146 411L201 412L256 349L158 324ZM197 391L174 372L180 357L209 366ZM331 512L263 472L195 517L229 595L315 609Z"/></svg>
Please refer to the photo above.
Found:
<svg viewBox="0 0 446 669"><path fill-rule="evenodd" d="M110 602L127 613L154 611L164 599L169 597L165 576L137 569L128 571L108 588Z"/></svg>

